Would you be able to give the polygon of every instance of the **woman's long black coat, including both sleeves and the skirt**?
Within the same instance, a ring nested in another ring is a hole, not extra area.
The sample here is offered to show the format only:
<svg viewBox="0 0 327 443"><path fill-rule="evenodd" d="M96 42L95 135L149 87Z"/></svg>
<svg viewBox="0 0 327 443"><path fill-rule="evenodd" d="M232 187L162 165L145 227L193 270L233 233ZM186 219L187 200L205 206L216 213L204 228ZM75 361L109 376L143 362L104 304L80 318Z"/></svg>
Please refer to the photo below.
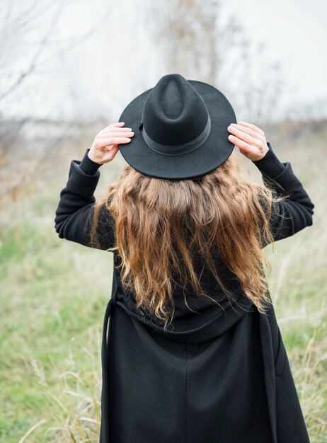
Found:
<svg viewBox="0 0 327 443"><path fill-rule="evenodd" d="M265 157L253 162L263 182L292 191L273 207L278 241L311 226L314 204L291 164L268 146ZM54 219L59 238L84 246L100 177L87 154L71 160ZM101 249L114 245L113 220L104 213L98 234ZM103 323L101 443L309 442L273 306L260 314L236 284L239 306L231 307L205 276L202 284L224 309L188 294L194 313L176 294L173 325L165 334L155 319L139 316L132 294L122 289L118 264L114 253Z"/></svg>

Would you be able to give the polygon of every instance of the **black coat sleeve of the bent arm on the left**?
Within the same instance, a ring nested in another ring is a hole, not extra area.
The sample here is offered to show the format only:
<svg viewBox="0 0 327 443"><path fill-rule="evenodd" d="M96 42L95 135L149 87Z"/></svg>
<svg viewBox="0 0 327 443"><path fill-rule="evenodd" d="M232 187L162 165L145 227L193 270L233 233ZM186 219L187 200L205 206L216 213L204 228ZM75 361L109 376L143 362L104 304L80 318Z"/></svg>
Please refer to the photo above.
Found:
<svg viewBox="0 0 327 443"><path fill-rule="evenodd" d="M93 194L100 178L101 165L88 158L88 151L89 149L81 161L71 160L68 181L60 191L55 210L54 229L59 238L94 248L95 246L89 244L88 234L96 203ZM98 249L106 250L114 246L114 226L111 215L101 207L97 230L100 244Z"/></svg>

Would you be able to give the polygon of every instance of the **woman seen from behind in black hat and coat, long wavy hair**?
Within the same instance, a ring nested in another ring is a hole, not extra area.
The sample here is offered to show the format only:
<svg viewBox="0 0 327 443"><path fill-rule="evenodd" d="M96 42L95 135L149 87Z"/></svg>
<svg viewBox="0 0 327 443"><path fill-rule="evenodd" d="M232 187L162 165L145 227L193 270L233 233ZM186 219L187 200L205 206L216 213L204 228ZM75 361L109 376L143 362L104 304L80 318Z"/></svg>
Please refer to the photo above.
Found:
<svg viewBox="0 0 327 443"><path fill-rule="evenodd" d="M241 177L234 146L263 184ZM128 164L96 202L99 168L118 150ZM101 443L309 442L262 249L313 214L263 130L180 74L71 160L57 234L114 253Z"/></svg>

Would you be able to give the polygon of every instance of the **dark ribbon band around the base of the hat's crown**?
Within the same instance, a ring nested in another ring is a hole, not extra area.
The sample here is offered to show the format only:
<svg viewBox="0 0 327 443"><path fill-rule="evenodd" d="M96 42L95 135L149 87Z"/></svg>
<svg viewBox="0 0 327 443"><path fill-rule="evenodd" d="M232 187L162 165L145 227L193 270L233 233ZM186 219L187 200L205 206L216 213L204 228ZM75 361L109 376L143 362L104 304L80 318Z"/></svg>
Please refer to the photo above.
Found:
<svg viewBox="0 0 327 443"><path fill-rule="evenodd" d="M144 129L144 125L142 125L141 132L144 141L154 151L158 152L159 154L163 154L165 156L180 156L183 154L188 154L188 152L195 151L195 149L200 148L200 146L204 144L206 139L209 137L210 130L211 130L211 120L210 120L210 115L208 113L208 120L207 120L207 125L205 125L205 129L201 132L200 135L195 137L195 139L190 140L190 142L187 143L169 146L168 144L161 144L155 142L153 139L151 139L151 137L149 137L149 134L147 134L146 130Z"/></svg>

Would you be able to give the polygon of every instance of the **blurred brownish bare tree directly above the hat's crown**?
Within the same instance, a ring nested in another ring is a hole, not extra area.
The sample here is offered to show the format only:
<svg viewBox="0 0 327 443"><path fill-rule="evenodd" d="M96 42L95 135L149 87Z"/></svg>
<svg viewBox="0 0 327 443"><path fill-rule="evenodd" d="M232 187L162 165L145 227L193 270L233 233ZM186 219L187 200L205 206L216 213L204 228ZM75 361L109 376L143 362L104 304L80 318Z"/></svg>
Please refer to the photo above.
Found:
<svg viewBox="0 0 327 443"><path fill-rule="evenodd" d="M214 83L219 68L218 0L151 2L149 28L162 52L167 71ZM154 20L154 17L156 18Z"/></svg>

